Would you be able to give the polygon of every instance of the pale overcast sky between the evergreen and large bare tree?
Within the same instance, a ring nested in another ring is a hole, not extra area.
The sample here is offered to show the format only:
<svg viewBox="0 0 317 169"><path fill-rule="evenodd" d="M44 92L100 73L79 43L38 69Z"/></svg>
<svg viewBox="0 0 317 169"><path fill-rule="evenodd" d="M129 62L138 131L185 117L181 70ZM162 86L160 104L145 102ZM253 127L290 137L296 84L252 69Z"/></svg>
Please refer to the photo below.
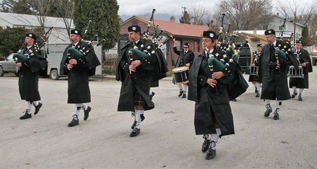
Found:
<svg viewBox="0 0 317 169"><path fill-rule="evenodd" d="M170 16L174 16L176 17L176 21L178 21L184 11L182 7L190 8L196 4L203 7L213 8L219 0L118 0L117 2L119 5L119 15L123 20L126 20L133 15L150 18L152 10L155 9L154 19L169 20Z"/></svg>

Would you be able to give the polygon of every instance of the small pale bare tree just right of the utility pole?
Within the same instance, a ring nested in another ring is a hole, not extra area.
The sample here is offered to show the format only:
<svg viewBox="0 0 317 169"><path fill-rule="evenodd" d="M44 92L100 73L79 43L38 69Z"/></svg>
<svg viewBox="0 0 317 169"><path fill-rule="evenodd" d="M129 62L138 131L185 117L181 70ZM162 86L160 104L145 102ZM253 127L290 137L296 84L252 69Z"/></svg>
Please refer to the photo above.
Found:
<svg viewBox="0 0 317 169"><path fill-rule="evenodd" d="M203 25L204 24L204 15L206 14L206 9L200 4L195 4L188 9L188 14L193 20L194 25Z"/></svg>

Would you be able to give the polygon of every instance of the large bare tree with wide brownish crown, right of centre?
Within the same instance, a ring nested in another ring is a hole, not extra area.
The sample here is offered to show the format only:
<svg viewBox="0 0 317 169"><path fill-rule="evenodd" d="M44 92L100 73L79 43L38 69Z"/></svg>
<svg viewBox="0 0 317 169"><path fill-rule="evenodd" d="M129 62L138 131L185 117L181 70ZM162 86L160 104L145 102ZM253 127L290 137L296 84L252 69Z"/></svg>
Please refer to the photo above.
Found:
<svg viewBox="0 0 317 169"><path fill-rule="evenodd" d="M265 25L272 14L271 0L221 0L218 7L237 30Z"/></svg>

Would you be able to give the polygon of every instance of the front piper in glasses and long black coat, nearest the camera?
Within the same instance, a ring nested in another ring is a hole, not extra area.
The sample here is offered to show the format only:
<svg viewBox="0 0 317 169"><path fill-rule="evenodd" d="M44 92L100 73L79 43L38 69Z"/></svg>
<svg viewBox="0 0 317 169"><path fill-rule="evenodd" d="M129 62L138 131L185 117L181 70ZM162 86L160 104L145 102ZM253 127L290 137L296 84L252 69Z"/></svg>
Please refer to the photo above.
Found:
<svg viewBox="0 0 317 169"><path fill-rule="evenodd" d="M209 53L206 49L211 49L210 54L215 55L217 43L217 34L214 31L204 31L202 38L204 52L194 57L189 71L188 99L196 102L195 131L197 135L203 134L205 139L201 148L202 152L207 151L205 159L213 159L216 156L216 143L221 136L234 134L228 85L217 79L234 74L236 66L230 64L222 72L211 74L207 63ZM215 93L216 87L218 93Z"/></svg>

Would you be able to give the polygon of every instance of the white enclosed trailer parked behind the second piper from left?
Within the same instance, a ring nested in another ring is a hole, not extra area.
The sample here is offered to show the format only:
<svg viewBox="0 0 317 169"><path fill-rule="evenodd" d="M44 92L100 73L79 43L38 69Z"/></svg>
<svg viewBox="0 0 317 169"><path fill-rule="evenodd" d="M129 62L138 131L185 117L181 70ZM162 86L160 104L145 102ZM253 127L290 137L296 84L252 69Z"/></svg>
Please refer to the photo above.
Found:
<svg viewBox="0 0 317 169"><path fill-rule="evenodd" d="M52 80L57 80L62 76L60 75L59 66L63 57L63 52L68 45L69 43L49 44L47 75L49 75ZM95 47L94 51L101 63L101 46ZM96 75L101 75L101 73L101 65L99 65L96 67Z"/></svg>

